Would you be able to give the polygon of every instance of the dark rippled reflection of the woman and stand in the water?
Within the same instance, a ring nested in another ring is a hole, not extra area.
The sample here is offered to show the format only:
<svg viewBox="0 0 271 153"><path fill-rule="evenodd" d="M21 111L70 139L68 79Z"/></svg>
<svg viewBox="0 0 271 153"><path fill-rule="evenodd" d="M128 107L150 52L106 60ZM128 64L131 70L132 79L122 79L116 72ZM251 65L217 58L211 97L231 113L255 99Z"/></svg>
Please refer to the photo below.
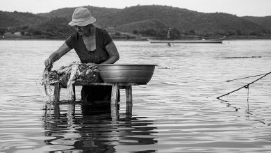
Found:
<svg viewBox="0 0 271 153"><path fill-rule="evenodd" d="M69 152L117 152L116 145L157 143L153 135L156 127L150 126L153 121L132 116L131 107L132 105L127 104L126 113L119 114L119 106L111 109L108 102L46 104L45 136L55 139L44 141L47 145L73 146Z"/></svg>

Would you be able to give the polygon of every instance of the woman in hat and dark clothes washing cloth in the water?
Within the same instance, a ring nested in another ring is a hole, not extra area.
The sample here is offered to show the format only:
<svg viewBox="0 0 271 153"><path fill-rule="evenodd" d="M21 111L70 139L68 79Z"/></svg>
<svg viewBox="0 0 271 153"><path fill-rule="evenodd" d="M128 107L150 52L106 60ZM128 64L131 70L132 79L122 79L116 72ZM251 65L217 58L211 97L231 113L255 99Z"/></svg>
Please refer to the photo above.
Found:
<svg viewBox="0 0 271 153"><path fill-rule="evenodd" d="M76 51L81 63L88 63L90 67L118 61L120 56L113 40L105 30L93 25L95 21L88 8L76 8L72 22L69 22L70 26L75 26L76 33L44 61L45 66L51 68L54 62L72 49ZM83 101L109 100L110 94L110 86L83 86L81 90Z"/></svg>

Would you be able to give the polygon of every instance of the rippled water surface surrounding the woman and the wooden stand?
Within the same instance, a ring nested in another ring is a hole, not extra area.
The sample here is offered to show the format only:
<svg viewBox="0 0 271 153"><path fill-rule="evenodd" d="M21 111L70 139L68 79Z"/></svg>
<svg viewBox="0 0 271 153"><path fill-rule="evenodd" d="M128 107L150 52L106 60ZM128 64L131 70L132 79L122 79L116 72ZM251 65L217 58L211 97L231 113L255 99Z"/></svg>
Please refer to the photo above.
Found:
<svg viewBox="0 0 271 153"><path fill-rule="evenodd" d="M271 74L216 99L259 77L227 80L270 72L271 40L116 41L117 63L158 65L133 87L133 106L121 90L117 115L108 104L67 102L65 90L63 102L47 102L44 60L62 43L0 41L0 152L271 152ZM54 68L72 61L74 51Z"/></svg>

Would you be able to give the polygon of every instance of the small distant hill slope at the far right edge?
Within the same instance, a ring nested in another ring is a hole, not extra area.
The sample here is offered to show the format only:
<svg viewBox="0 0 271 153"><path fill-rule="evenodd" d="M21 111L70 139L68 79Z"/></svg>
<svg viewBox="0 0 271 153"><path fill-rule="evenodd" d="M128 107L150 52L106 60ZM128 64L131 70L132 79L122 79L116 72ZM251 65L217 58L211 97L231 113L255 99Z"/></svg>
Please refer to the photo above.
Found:
<svg viewBox="0 0 271 153"><path fill-rule="evenodd" d="M266 17L252 17L252 16L245 16L242 17L243 19L247 19L251 22L264 26L267 29L271 30L271 16Z"/></svg>

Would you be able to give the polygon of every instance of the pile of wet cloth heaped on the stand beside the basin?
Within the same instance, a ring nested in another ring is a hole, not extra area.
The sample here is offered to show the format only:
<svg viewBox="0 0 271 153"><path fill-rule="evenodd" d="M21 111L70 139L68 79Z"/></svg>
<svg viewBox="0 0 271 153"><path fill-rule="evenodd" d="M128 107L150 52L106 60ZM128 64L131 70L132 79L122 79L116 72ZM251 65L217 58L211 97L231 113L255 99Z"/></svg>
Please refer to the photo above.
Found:
<svg viewBox="0 0 271 153"><path fill-rule="evenodd" d="M50 85L59 82L61 86L67 87L67 96L72 99L74 93L72 92L72 84L74 82L93 83L101 82L99 71L97 67L92 64L72 62L68 66L62 66L59 70L51 71L45 68L43 72L42 85Z"/></svg>

